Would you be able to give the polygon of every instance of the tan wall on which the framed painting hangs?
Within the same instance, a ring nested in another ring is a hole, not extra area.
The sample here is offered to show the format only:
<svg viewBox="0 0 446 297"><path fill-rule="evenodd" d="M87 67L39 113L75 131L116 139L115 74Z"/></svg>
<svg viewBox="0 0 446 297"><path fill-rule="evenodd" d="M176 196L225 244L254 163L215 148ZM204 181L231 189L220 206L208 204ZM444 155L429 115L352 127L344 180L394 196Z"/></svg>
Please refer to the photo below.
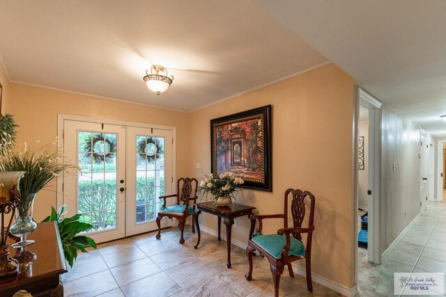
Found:
<svg viewBox="0 0 446 297"><path fill-rule="evenodd" d="M325 65L191 114L189 172L210 172L209 120L272 104L273 192L243 190L239 203L261 214L283 211L286 188L302 188L316 196L314 273L346 287L353 285L352 122L354 79L335 65ZM200 163L201 169L195 169ZM233 238L246 242L249 220L239 218ZM217 230L215 216L203 214L201 224ZM277 232L276 220L264 232ZM255 272L254 272L255 274Z"/></svg>

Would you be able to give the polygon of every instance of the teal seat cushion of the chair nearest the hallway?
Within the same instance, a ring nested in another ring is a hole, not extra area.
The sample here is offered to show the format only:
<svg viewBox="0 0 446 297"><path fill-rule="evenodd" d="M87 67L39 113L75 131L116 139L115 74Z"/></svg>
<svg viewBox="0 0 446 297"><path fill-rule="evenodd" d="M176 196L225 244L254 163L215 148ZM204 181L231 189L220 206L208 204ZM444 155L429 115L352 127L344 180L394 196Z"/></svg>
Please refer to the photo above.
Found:
<svg viewBox="0 0 446 297"><path fill-rule="evenodd" d="M263 248L276 259L282 257L282 249L286 245L285 235L256 233L252 235L252 241ZM305 246L302 241L291 236L289 255L305 257Z"/></svg>

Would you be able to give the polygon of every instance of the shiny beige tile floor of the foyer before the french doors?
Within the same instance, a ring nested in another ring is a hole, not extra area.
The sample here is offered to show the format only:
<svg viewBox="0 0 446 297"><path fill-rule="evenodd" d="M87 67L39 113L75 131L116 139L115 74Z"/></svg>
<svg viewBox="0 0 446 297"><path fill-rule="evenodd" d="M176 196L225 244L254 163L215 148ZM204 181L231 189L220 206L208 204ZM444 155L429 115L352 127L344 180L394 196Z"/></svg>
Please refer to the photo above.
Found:
<svg viewBox="0 0 446 297"><path fill-rule="evenodd" d="M226 268L226 241L201 232L185 231L185 243L178 243L179 231L163 230L160 240L155 232L98 246L80 254L74 267L62 276L65 296L274 296L268 261L254 257L253 280L247 282L245 250L233 246ZM281 296L340 296L313 283L309 293L306 280L288 270L280 281Z"/></svg>

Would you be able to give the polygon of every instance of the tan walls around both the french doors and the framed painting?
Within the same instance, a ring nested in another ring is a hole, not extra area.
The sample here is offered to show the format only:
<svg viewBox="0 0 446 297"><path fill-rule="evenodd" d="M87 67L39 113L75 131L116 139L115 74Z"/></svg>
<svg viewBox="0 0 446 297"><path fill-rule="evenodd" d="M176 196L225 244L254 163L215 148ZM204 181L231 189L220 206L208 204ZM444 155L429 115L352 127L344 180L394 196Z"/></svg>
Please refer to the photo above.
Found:
<svg viewBox="0 0 446 297"><path fill-rule="evenodd" d="M257 207L258 213L279 213L286 188L312 191L316 195L313 271L351 287L354 82L339 67L325 65L192 113L10 83L12 98L5 106L21 126L19 143L53 141L58 113L176 127L177 176L203 177L210 171L209 120L272 104L274 191L243 190L238 202ZM196 163L201 169L195 169ZM49 206L55 204L56 193L41 193L36 219L47 216ZM203 214L201 224L217 230L213 216ZM275 233L279 227L271 220L264 231ZM247 218L238 218L233 239L246 242L248 230Z"/></svg>

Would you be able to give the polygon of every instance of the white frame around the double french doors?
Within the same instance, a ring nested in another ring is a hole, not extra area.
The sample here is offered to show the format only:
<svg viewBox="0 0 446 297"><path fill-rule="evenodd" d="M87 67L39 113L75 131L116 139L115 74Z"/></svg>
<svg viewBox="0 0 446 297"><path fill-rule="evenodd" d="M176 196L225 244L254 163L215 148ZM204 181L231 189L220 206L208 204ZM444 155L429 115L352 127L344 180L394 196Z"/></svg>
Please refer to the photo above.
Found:
<svg viewBox="0 0 446 297"><path fill-rule="evenodd" d="M141 127L141 128L153 128L153 129L163 129L172 131L172 140L174 144L172 145L172 177L173 180L176 181L176 127L170 126L162 126L162 125L152 125L141 122L127 122L121 120L109 120L109 119L101 119L101 118L89 118L78 115L66 115L63 113L59 113L57 115L57 138L63 139L63 121L64 120L74 120L77 122L95 122L100 124L107 125L123 125L127 127ZM58 141L58 147L63 150L63 141ZM63 204L63 191L59 191L63 189L63 179L57 179L57 205L56 207L61 207ZM174 182L172 182L171 188L175 188ZM171 193L166 193L169 195Z"/></svg>

